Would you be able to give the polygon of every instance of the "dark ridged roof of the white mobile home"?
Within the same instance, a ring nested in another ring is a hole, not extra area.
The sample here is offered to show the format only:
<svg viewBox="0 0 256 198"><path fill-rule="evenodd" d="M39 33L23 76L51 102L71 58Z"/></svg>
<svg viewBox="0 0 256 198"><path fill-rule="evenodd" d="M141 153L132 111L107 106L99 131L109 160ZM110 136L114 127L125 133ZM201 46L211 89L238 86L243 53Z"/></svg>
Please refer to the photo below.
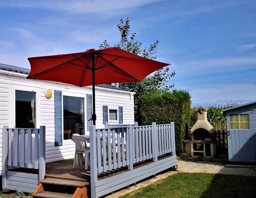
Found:
<svg viewBox="0 0 256 198"><path fill-rule="evenodd" d="M23 68L23 67L16 67L16 66L12 66L12 65L6 65L6 64L2 64L2 63L0 63L0 70L22 73L22 74L29 74L29 72L30 72L30 69L26 69L26 68ZM115 87L115 86L108 85L108 84L102 84L102 85L96 85L96 86L97 87L108 88L108 89L128 91L127 89L123 89L123 88L120 88L120 87Z"/></svg>

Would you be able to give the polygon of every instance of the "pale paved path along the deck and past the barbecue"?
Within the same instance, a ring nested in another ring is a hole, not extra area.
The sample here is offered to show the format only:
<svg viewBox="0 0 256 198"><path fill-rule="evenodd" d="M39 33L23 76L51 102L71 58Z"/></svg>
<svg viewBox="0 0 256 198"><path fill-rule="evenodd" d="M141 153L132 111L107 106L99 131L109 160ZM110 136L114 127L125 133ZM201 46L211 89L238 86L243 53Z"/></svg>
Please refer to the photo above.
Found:
<svg viewBox="0 0 256 198"><path fill-rule="evenodd" d="M222 163L207 162L207 161L178 161L177 171L170 171L161 175L157 175L156 179L152 178L137 184L136 186L131 186L129 190L123 189L116 193L113 193L106 198L118 198L127 193L133 192L142 187L146 187L154 182L167 178L178 172L180 173L212 173L212 174L226 174L226 175L244 175L244 176L254 176L256 177L256 171L254 171L253 166L248 165L224 165Z"/></svg>

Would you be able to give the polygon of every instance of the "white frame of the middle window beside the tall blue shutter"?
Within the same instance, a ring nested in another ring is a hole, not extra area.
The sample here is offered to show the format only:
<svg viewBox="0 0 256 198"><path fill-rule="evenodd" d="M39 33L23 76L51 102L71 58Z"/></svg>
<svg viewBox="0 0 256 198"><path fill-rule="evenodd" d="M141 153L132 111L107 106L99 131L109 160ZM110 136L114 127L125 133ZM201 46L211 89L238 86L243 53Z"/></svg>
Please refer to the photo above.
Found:
<svg viewBox="0 0 256 198"><path fill-rule="evenodd" d="M63 96L71 96L71 97L79 97L79 98L83 98L83 106L84 106L84 134L86 133L86 129L87 129L87 116L86 116L86 112L87 112L87 107L86 107L86 93L75 93L75 92L67 92L67 91L62 91L62 99L61 99L61 111L62 111L62 143L66 143L66 142L71 142L71 137L70 139L64 140L64 135L63 135L63 130L64 130L64 112L63 112Z"/></svg>

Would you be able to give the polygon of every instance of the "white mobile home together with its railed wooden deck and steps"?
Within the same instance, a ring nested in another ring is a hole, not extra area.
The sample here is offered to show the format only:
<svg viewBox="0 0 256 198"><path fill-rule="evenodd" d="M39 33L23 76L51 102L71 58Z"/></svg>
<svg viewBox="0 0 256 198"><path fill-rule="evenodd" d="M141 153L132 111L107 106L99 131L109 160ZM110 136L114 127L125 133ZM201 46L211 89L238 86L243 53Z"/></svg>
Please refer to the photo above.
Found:
<svg viewBox="0 0 256 198"><path fill-rule="evenodd" d="M3 189L34 191L33 198L84 198L90 188L98 198L176 166L174 123L137 126L135 93L98 85L92 126L90 86L26 79L28 73L0 64ZM74 133L89 135L86 170L73 168Z"/></svg>

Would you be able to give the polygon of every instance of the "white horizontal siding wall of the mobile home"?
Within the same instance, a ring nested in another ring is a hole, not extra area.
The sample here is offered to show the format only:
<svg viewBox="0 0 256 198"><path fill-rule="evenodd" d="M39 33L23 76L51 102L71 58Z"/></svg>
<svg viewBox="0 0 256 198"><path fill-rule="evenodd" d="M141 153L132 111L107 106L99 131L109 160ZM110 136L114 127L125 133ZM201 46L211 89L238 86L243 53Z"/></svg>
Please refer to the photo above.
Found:
<svg viewBox="0 0 256 198"><path fill-rule="evenodd" d="M36 111L39 111L39 121L37 119L37 127L44 125L46 128L46 162L52 162L62 159L73 158L74 156L74 143L71 140L63 140L63 145L54 146L54 90L62 91L62 95L70 96L83 96L85 106L85 120L86 120L86 95L92 94L90 87L75 87L68 85L70 88L65 88L65 84L30 80L23 77L7 76L0 74L0 173L1 173L1 161L2 161L2 126L7 125L14 127L12 117L14 114L10 111L14 111L13 100L14 97L10 96L11 89L15 86L34 87L40 92L40 99L36 99L37 105ZM44 91L50 88L53 90L52 97L47 99L44 95ZM8 102L9 101L9 102ZM12 105L11 105L12 104ZM133 112L133 95L129 92L123 92L118 90L111 90L105 88L96 87L96 127L103 128L102 121L102 105L107 106L122 106L123 107L123 124L134 123ZM37 117L37 118L38 118ZM12 120L11 120L12 119ZM86 124L86 122L85 122ZM1 175L1 174L0 174Z"/></svg>

